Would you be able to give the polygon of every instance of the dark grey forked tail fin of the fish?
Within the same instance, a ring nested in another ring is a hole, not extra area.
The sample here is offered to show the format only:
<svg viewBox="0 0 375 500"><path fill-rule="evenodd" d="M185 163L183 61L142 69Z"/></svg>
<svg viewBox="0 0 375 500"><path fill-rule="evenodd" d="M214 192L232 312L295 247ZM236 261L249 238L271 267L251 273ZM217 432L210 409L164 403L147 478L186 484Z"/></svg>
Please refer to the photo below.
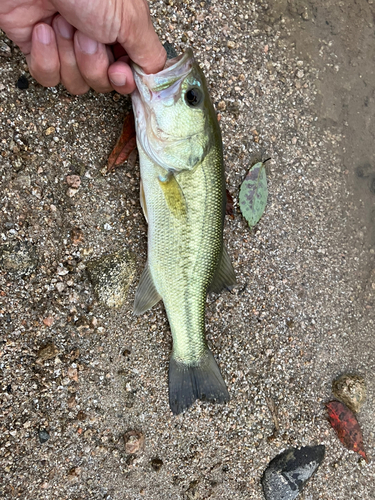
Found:
<svg viewBox="0 0 375 500"><path fill-rule="evenodd" d="M173 357L169 364L169 406L177 415L191 406L196 399L212 403L229 401L219 367L207 349L197 365L186 365Z"/></svg>

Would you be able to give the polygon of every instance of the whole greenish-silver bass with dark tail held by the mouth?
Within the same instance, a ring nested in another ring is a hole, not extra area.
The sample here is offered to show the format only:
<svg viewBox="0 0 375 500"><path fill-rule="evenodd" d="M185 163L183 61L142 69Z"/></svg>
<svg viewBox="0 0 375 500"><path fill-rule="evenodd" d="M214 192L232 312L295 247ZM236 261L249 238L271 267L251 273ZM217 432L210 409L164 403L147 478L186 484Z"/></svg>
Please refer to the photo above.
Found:
<svg viewBox="0 0 375 500"><path fill-rule="evenodd" d="M223 243L226 189L219 123L189 48L146 74L133 64L140 200L148 222L147 263L134 299L143 314L160 300L173 347L173 414L197 399L224 403L228 389L205 339L207 293L236 279Z"/></svg>

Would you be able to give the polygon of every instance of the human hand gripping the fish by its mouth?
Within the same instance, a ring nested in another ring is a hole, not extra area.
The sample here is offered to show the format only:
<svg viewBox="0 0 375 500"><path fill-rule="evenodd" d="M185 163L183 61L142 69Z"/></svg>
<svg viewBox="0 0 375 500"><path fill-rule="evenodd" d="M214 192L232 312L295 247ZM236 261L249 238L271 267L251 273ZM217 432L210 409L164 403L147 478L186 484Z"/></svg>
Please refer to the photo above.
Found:
<svg viewBox="0 0 375 500"><path fill-rule="evenodd" d="M0 28L40 84L61 81L71 94L90 87L128 94L135 88L129 60L146 73L166 60L146 0L2 0Z"/></svg>

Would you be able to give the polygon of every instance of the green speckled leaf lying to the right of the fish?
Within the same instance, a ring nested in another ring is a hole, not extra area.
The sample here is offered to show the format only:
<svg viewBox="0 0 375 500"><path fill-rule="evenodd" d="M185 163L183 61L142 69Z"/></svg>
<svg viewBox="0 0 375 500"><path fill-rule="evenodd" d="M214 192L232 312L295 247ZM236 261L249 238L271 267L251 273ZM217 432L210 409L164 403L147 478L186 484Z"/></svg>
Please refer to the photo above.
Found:
<svg viewBox="0 0 375 500"><path fill-rule="evenodd" d="M267 205L268 188L264 163L251 167L240 189L240 209L250 228L262 217Z"/></svg>

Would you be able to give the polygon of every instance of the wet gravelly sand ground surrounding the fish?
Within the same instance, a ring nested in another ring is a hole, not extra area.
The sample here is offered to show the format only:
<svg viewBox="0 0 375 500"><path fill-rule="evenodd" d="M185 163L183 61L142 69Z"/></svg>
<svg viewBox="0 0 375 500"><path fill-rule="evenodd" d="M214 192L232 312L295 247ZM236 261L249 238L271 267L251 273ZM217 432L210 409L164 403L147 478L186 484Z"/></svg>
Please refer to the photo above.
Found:
<svg viewBox="0 0 375 500"><path fill-rule="evenodd" d="M3 35L0 496L260 500L276 454L325 444L301 498L373 499L373 462L342 447L324 402L339 374L365 377L358 419L373 459L375 5L168 0L151 11L160 37L191 45L207 75L235 202L251 163L272 158L257 228L238 209L226 221L238 286L207 299L231 401L172 416L163 307L132 314L146 260L138 166L102 174L129 99L42 88ZM109 309L86 267L124 248L136 276ZM144 436L133 454L131 429Z"/></svg>

